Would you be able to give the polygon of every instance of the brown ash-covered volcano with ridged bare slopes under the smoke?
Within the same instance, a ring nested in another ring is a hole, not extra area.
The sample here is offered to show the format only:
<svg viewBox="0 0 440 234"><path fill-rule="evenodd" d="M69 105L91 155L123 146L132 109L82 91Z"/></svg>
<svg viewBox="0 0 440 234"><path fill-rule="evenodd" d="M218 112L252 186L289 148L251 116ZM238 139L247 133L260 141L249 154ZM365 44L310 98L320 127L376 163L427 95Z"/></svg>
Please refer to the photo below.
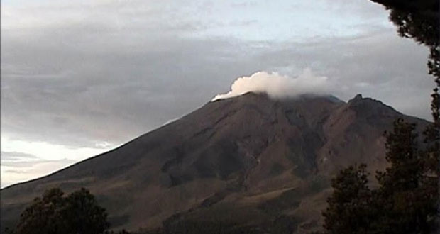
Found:
<svg viewBox="0 0 440 234"><path fill-rule="evenodd" d="M395 118L426 121L356 96L269 99L248 93L202 106L115 150L1 190L1 228L45 189L84 186L113 227L314 230L329 178L354 162L383 169L382 134Z"/></svg>

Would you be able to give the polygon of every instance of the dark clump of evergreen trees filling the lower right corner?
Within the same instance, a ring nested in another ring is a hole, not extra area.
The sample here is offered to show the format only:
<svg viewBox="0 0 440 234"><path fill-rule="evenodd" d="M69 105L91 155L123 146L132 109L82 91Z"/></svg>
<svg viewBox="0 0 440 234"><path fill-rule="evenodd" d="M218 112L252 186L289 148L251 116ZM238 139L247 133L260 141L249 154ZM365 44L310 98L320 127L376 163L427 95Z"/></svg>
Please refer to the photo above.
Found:
<svg viewBox="0 0 440 234"><path fill-rule="evenodd" d="M438 228L439 168L432 163L439 152L431 150L438 147L439 135L427 135L427 150L420 150L414 129L398 119L385 133L390 167L377 172L378 189L368 188L365 165L343 169L333 179L334 192L323 212L325 233L431 233Z"/></svg>

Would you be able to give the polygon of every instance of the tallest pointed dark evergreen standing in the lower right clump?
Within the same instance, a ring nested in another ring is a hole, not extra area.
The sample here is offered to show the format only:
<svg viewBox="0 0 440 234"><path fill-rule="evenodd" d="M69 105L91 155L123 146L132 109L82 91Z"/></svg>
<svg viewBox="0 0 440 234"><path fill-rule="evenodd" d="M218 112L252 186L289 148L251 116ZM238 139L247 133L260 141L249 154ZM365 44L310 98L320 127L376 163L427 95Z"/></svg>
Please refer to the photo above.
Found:
<svg viewBox="0 0 440 234"><path fill-rule="evenodd" d="M426 177L429 173L424 163L425 152L419 150L415 125L398 119L394 130L386 133L386 160L390 162L385 172L376 178L380 188L375 192L378 204L377 233L428 233L430 209L427 199Z"/></svg>

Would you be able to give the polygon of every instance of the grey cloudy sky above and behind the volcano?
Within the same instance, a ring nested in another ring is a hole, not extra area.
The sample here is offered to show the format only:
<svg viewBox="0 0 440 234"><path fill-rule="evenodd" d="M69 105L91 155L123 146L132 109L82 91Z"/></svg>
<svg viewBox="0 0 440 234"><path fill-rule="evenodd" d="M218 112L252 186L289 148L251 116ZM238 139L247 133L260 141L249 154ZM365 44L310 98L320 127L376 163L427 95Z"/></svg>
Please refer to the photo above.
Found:
<svg viewBox="0 0 440 234"><path fill-rule="evenodd" d="M180 118L258 72L429 119L428 50L368 0L1 1L1 187ZM336 88L335 88L336 87Z"/></svg>

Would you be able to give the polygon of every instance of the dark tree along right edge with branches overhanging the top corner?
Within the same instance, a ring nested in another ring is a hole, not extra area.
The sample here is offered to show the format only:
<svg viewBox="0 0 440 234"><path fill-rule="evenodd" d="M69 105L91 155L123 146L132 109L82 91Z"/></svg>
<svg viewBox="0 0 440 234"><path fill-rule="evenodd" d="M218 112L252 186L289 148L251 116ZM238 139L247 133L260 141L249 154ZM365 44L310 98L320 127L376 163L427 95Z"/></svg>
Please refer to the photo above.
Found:
<svg viewBox="0 0 440 234"><path fill-rule="evenodd" d="M434 123L424 131L426 149L422 154L424 177L419 199L426 202L429 222L439 220L440 188L440 1L439 0L371 0L390 10L390 21L405 38L429 48L428 69L436 87L431 94L431 113Z"/></svg>

